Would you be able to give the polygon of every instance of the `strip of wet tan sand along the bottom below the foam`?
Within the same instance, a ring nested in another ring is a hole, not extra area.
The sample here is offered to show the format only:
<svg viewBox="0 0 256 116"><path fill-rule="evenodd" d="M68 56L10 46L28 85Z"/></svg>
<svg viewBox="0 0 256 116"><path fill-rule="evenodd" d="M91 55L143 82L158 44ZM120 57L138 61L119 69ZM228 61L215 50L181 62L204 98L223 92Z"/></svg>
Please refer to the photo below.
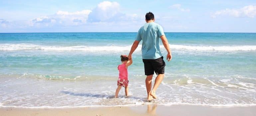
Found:
<svg viewBox="0 0 256 116"><path fill-rule="evenodd" d="M94 106L94 107L65 107L65 108L21 108L21 107L0 107L0 116L254 116L256 114L256 106L230 106L230 107L214 107L214 106L198 106L198 105L157 105L144 104L133 106Z"/></svg>

